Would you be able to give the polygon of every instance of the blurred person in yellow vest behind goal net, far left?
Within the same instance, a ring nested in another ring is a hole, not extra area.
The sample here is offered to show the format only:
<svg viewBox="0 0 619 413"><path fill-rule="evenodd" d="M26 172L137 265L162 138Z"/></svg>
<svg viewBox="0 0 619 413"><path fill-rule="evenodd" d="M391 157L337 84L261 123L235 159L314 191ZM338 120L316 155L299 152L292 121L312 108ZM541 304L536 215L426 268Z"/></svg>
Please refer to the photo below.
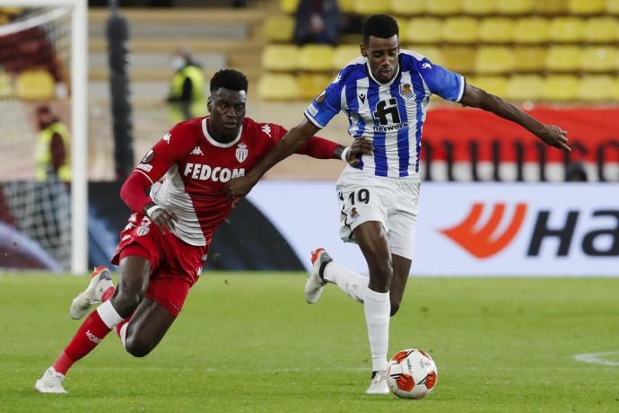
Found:
<svg viewBox="0 0 619 413"><path fill-rule="evenodd" d="M37 108L39 135L35 144L36 178L48 180L51 175L71 181L69 129L60 122L48 106Z"/></svg>

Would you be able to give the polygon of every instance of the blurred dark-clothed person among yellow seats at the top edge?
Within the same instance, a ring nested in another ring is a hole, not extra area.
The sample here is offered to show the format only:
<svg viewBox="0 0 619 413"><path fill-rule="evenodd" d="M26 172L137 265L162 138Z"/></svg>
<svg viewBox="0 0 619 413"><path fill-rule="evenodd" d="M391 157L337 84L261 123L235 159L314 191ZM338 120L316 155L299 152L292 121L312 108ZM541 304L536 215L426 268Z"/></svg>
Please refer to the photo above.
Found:
<svg viewBox="0 0 619 413"><path fill-rule="evenodd" d="M336 45L340 31L340 9L336 0L301 0L295 14L294 42Z"/></svg>

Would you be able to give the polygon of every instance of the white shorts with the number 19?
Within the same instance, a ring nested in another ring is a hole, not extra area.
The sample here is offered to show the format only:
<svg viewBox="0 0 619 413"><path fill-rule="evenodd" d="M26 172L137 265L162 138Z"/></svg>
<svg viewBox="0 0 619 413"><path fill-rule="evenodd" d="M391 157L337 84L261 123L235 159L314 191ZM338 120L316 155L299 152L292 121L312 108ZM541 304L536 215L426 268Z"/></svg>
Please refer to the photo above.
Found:
<svg viewBox="0 0 619 413"><path fill-rule="evenodd" d="M379 177L347 166L336 183L342 241L355 242L357 226L379 221L391 252L413 259L420 185L419 177Z"/></svg>

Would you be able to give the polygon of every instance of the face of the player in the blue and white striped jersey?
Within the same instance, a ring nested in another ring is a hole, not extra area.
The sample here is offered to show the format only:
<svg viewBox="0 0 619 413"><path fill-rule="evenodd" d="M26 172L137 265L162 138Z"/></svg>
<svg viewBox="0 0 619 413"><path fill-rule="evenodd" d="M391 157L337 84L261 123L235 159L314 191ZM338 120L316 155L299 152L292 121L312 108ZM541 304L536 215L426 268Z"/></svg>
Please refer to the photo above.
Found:
<svg viewBox="0 0 619 413"><path fill-rule="evenodd" d="M371 75L380 83L387 83L397 75L397 53L400 44L397 35L388 39L370 36L367 43L362 43L362 56L368 57Z"/></svg>

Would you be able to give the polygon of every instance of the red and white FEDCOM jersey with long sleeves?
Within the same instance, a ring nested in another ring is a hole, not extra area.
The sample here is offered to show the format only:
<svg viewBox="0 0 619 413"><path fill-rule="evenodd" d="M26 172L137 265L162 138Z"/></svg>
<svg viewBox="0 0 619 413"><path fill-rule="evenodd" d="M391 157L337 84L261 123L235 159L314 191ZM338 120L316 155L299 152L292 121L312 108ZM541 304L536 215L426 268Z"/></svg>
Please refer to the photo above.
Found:
<svg viewBox="0 0 619 413"><path fill-rule="evenodd" d="M173 233L196 246L208 245L231 212L232 201L223 192L226 182L247 174L287 132L280 125L245 118L239 135L222 144L210 136L209 121L206 117L177 124L134 170L150 180L153 201L178 216ZM336 146L314 136L298 153L330 158ZM137 209L138 204L127 204Z"/></svg>

